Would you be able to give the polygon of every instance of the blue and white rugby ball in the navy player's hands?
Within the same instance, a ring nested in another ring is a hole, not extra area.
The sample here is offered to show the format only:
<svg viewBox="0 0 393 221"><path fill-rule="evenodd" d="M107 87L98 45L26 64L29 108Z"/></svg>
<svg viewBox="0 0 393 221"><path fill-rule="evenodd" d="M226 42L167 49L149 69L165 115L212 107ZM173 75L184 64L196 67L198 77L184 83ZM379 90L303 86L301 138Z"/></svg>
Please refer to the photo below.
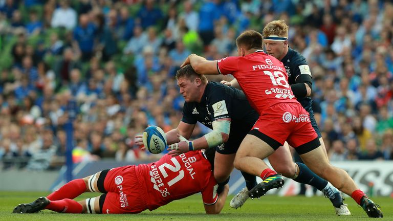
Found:
<svg viewBox="0 0 393 221"><path fill-rule="evenodd" d="M160 153L166 147L166 135L158 126L148 126L142 134L142 142L151 153Z"/></svg>

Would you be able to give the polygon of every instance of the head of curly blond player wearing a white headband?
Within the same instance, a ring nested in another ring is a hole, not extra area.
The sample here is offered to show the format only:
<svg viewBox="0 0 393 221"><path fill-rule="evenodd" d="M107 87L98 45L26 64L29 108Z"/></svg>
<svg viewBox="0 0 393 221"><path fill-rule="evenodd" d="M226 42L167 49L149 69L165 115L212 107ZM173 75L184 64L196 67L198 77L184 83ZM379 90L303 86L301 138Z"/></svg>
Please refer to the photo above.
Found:
<svg viewBox="0 0 393 221"><path fill-rule="evenodd" d="M285 20L274 20L262 31L266 52L278 60L288 52L288 28Z"/></svg>

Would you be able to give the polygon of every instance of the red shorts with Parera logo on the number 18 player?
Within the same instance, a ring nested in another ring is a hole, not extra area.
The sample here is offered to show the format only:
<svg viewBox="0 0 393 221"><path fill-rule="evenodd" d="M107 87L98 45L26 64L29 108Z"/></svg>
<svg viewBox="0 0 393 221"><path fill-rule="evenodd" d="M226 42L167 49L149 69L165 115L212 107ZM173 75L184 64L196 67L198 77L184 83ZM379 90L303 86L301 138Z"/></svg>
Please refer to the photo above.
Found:
<svg viewBox="0 0 393 221"><path fill-rule="evenodd" d="M249 134L265 141L274 150L285 141L299 154L320 146L310 115L297 103L278 103L259 116Z"/></svg>

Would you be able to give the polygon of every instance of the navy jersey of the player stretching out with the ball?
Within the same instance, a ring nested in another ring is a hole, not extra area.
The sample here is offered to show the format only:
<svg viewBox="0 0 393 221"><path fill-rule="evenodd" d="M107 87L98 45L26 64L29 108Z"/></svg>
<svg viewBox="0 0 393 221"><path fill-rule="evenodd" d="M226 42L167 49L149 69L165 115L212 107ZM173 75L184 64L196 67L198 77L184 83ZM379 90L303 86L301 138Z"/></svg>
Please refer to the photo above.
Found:
<svg viewBox="0 0 393 221"><path fill-rule="evenodd" d="M208 82L201 102L185 102L182 121L195 124L198 121L212 129L215 120L230 118L231 130L249 127L258 119L241 90L222 83Z"/></svg>

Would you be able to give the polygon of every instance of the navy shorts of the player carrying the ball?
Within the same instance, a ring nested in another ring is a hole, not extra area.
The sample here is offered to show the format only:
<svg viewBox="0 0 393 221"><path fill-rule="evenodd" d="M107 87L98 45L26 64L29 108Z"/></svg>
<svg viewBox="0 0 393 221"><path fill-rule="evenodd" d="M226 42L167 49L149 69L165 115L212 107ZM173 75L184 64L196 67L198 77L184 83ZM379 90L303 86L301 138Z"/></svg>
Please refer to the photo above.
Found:
<svg viewBox="0 0 393 221"><path fill-rule="evenodd" d="M229 132L229 138L226 143L216 146L215 151L221 154L232 154L236 153L243 139L250 131L252 125L236 125Z"/></svg>

